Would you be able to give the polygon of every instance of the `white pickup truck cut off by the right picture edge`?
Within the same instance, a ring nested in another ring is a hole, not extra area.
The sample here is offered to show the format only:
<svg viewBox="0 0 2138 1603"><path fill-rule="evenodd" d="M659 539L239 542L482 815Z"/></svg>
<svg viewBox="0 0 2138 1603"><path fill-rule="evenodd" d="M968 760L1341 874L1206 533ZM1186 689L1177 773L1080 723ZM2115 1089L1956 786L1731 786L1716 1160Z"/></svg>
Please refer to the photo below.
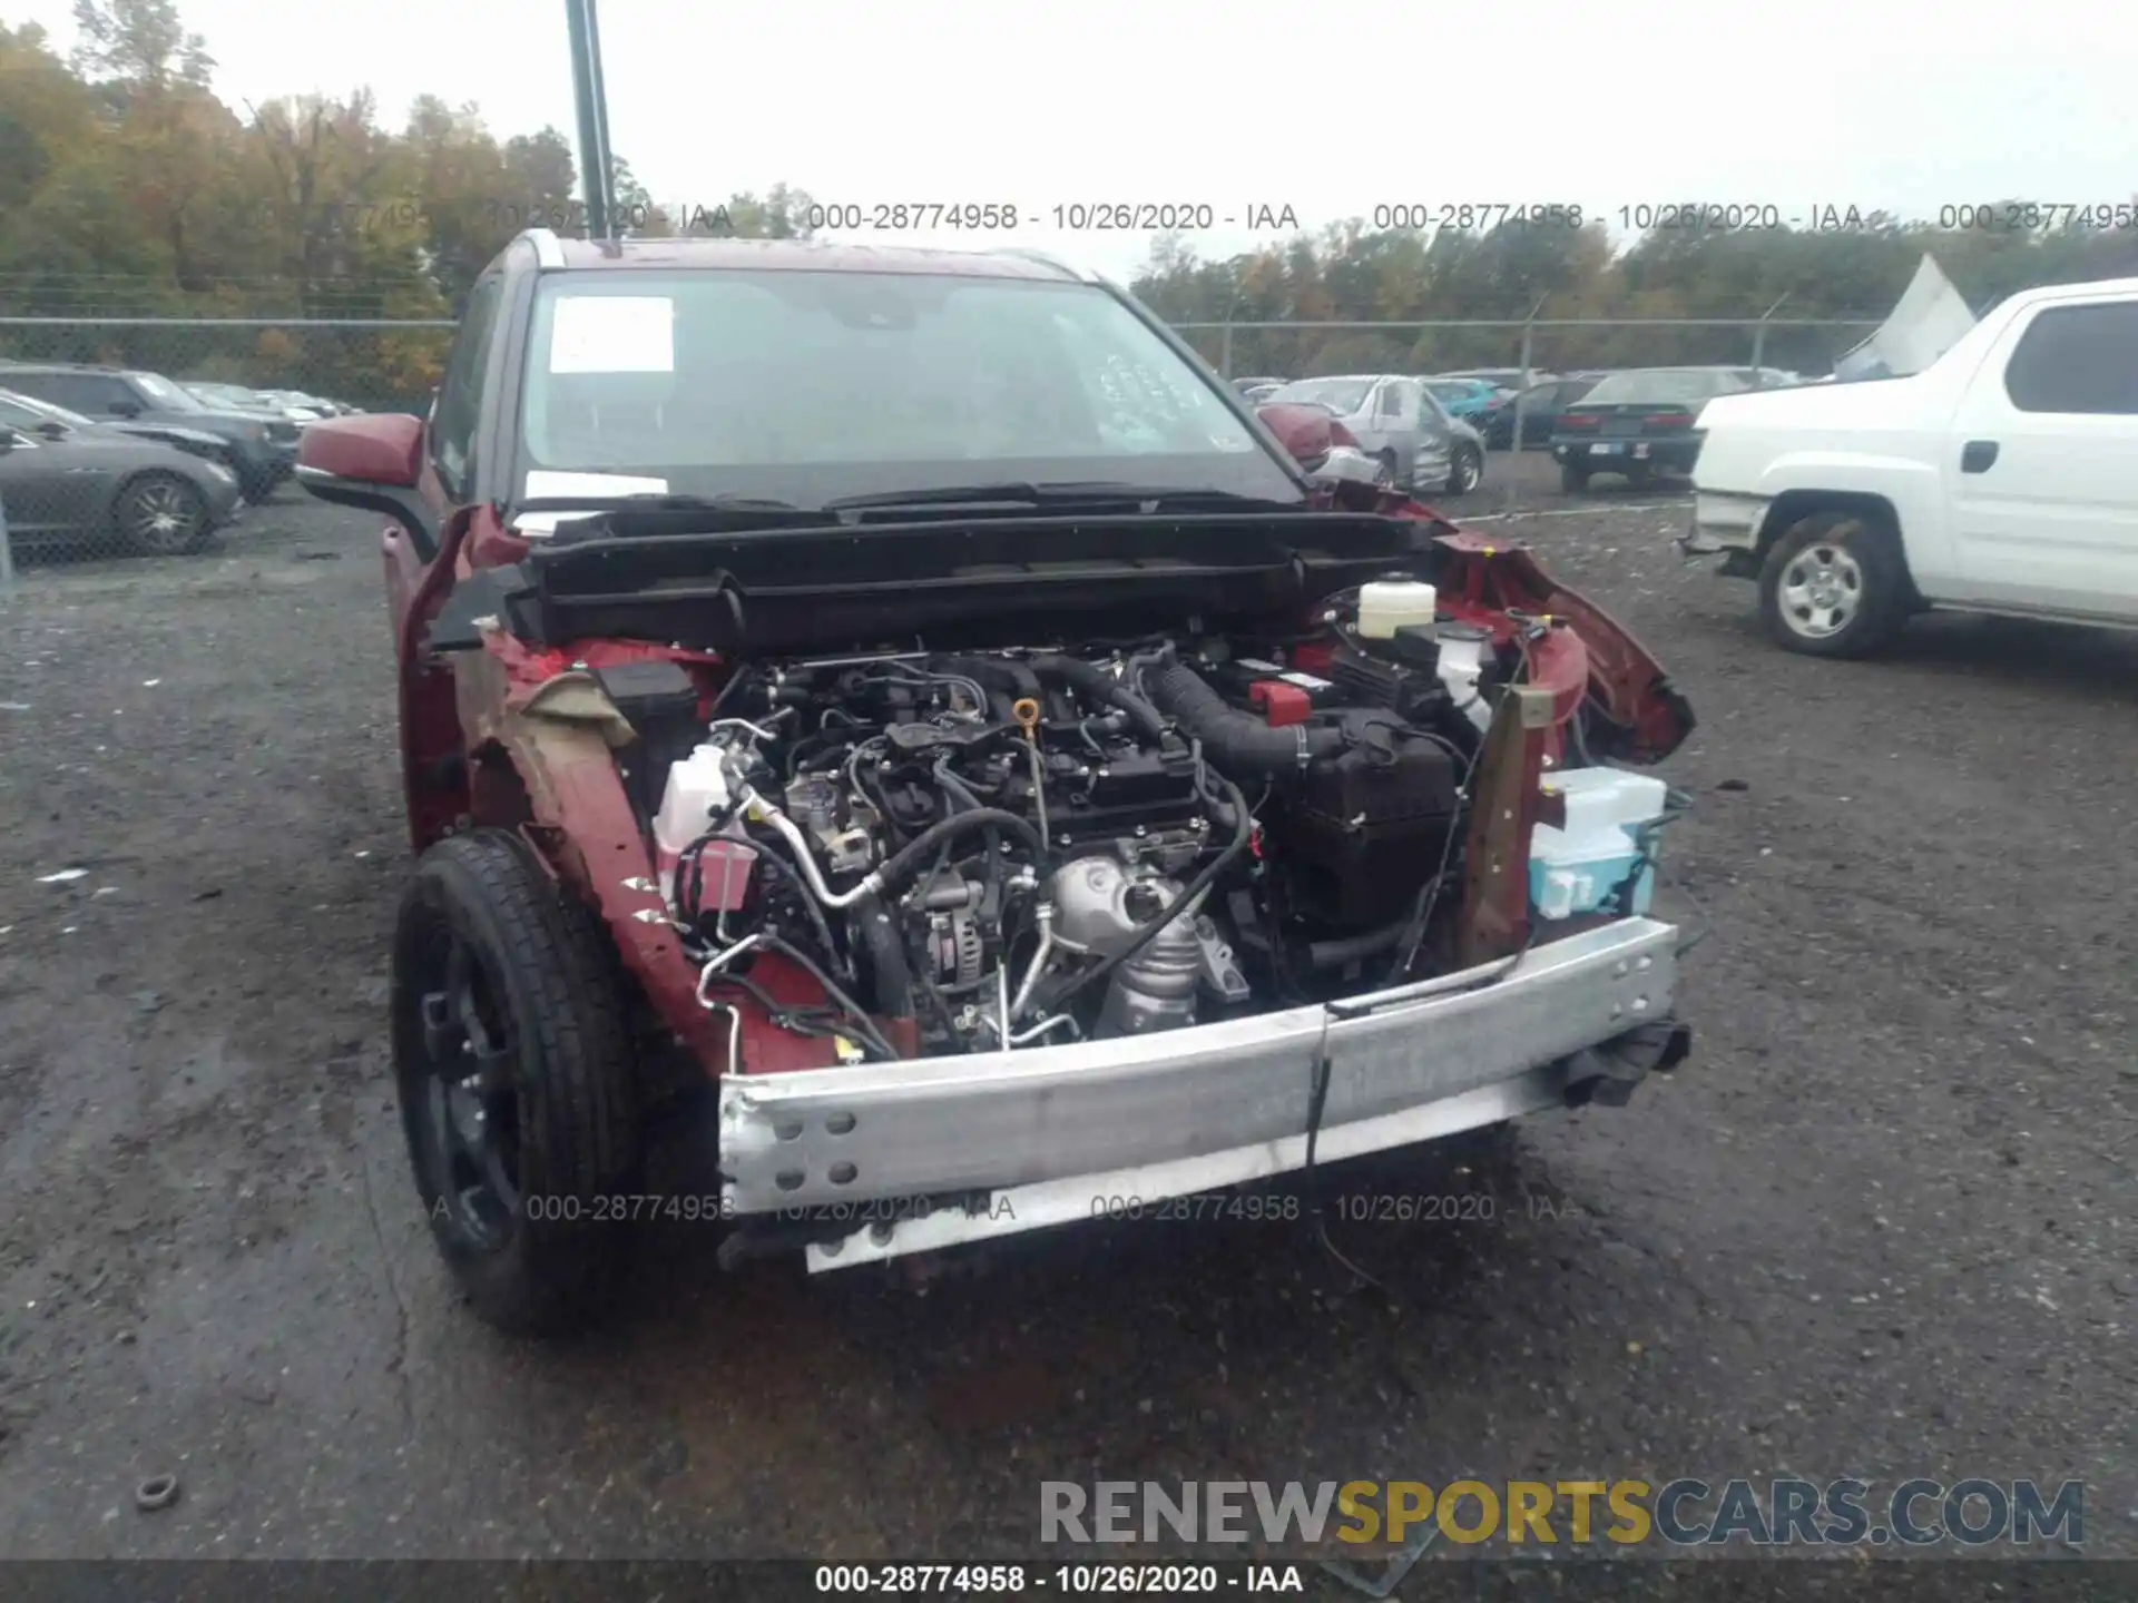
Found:
<svg viewBox="0 0 2138 1603"><path fill-rule="evenodd" d="M1860 656L1918 611L2138 628L2138 278L2012 295L1907 378L1721 395L1689 554L1777 643Z"/></svg>

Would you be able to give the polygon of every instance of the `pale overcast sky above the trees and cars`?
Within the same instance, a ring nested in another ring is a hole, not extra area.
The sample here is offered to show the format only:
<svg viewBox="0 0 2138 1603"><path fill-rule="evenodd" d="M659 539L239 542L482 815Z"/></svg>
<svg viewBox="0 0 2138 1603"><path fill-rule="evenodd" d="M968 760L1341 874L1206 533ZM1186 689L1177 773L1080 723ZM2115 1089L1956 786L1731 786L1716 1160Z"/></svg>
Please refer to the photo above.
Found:
<svg viewBox="0 0 2138 1603"><path fill-rule="evenodd" d="M425 90L492 130L573 130L560 0L180 0L231 100ZM68 0L0 17L68 43ZM1730 0L1432 6L601 0L609 137L659 201L996 201L1018 244L1131 274L1148 235L1056 205L1208 203L1199 254L1392 203L1813 207L2138 192L2138 6ZM511 199L511 197L505 197ZM889 244L894 239L877 235ZM956 235L939 242L956 244ZM966 235L969 239L969 235Z"/></svg>

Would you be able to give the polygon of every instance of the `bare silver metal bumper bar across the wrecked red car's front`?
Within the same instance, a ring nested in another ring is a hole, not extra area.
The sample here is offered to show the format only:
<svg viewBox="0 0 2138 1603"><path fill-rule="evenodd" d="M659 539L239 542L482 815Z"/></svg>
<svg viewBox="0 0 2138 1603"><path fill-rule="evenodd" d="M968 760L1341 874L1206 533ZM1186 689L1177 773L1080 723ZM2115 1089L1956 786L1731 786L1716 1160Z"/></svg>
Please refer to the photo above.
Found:
<svg viewBox="0 0 2138 1603"><path fill-rule="evenodd" d="M1330 1007L971 1056L727 1075L731 1216L853 1208L810 1267L954 1246L1454 1135L1559 1101L1565 1060L1670 1013L1678 932L1621 919ZM990 1205L907 1208L988 1193ZM1093 1199L1099 1199L1095 1205Z"/></svg>

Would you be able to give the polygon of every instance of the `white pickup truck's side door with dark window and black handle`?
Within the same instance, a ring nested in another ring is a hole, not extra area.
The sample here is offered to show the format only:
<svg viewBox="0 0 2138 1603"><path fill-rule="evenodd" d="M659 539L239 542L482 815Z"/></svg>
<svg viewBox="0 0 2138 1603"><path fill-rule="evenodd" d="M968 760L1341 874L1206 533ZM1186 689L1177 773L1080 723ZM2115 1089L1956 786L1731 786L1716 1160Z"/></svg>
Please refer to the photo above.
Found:
<svg viewBox="0 0 2138 1603"><path fill-rule="evenodd" d="M2138 620L2138 299L2033 308L1946 438L1967 598Z"/></svg>

